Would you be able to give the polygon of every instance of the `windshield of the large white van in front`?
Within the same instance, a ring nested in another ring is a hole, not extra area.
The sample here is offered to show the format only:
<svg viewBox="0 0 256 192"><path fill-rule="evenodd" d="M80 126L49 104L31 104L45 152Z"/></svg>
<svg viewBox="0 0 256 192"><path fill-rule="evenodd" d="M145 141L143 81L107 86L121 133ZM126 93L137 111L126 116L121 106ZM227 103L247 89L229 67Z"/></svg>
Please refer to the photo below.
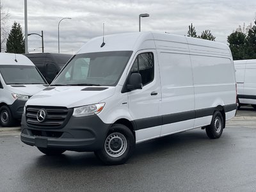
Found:
<svg viewBox="0 0 256 192"><path fill-rule="evenodd" d="M132 51L77 54L63 68L51 86L115 86L131 54Z"/></svg>

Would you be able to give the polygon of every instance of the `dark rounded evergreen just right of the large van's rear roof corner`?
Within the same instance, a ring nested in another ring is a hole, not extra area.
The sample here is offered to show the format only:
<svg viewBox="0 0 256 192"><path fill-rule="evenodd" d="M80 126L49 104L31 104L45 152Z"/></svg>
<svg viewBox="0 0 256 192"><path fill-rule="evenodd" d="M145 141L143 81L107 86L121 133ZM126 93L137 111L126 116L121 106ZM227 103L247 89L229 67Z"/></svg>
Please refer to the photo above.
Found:
<svg viewBox="0 0 256 192"><path fill-rule="evenodd" d="M246 35L240 31L234 31L228 36L228 44L234 60L244 60Z"/></svg>

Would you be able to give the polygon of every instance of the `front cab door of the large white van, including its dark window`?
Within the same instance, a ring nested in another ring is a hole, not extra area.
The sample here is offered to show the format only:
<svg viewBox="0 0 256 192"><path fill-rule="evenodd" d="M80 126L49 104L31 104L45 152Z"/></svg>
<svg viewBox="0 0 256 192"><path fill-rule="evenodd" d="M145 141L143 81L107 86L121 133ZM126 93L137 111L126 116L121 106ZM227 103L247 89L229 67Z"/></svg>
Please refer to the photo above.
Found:
<svg viewBox="0 0 256 192"><path fill-rule="evenodd" d="M141 90L128 92L129 112L136 124L136 141L157 138L161 132L159 101L161 86L155 50L136 54L131 73L139 72L143 83Z"/></svg>

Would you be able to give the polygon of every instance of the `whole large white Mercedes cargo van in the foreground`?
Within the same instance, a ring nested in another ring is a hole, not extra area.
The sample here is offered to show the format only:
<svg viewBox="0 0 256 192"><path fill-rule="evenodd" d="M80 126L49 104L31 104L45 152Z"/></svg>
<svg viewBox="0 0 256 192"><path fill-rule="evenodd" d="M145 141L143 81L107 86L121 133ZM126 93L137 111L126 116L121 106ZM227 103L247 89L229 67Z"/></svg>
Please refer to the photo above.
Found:
<svg viewBox="0 0 256 192"><path fill-rule="evenodd" d="M202 127L220 138L237 109L227 45L162 33L93 38L28 100L21 140L47 155L124 163L136 143Z"/></svg>

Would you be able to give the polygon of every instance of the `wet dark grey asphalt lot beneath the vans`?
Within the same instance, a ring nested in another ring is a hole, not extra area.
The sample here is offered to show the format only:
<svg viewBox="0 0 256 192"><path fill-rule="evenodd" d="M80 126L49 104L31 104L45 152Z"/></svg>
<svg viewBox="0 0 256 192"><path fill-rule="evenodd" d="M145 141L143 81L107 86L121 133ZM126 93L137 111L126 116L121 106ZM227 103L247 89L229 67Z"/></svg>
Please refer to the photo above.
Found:
<svg viewBox="0 0 256 192"><path fill-rule="evenodd" d="M255 191L255 123L256 111L241 108L218 140L201 129L166 136L118 166L92 152L48 157L19 131L0 132L0 191Z"/></svg>

